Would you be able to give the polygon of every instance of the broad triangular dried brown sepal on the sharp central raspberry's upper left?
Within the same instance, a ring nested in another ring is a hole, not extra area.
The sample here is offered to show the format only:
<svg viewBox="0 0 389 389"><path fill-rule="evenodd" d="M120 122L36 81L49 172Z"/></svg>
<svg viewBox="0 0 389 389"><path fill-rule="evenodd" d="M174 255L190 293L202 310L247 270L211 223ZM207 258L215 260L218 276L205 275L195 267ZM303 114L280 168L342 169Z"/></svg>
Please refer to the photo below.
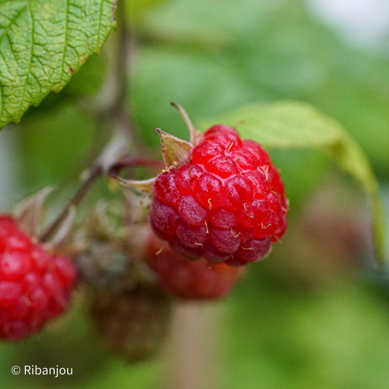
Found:
<svg viewBox="0 0 389 389"><path fill-rule="evenodd" d="M190 153L193 149L191 143L174 137L160 128L157 128L155 133L161 138L162 157L167 168L173 166L177 169L190 162Z"/></svg>

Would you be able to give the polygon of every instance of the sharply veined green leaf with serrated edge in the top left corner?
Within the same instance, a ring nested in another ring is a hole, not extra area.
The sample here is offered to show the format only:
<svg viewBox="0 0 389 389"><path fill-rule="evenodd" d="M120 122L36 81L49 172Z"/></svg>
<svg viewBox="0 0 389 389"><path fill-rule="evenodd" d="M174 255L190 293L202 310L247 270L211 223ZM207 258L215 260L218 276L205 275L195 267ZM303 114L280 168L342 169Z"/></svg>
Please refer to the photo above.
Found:
<svg viewBox="0 0 389 389"><path fill-rule="evenodd" d="M0 128L59 92L116 26L115 0L0 0Z"/></svg>

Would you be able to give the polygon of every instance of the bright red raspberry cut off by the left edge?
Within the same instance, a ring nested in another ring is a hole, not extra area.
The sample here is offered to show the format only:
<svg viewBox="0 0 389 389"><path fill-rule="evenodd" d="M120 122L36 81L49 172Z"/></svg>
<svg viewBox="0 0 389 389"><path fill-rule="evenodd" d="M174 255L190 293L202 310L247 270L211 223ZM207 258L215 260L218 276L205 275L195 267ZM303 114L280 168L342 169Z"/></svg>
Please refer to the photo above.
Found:
<svg viewBox="0 0 389 389"><path fill-rule="evenodd" d="M0 215L0 339L21 340L61 314L76 274L68 257L50 255Z"/></svg>

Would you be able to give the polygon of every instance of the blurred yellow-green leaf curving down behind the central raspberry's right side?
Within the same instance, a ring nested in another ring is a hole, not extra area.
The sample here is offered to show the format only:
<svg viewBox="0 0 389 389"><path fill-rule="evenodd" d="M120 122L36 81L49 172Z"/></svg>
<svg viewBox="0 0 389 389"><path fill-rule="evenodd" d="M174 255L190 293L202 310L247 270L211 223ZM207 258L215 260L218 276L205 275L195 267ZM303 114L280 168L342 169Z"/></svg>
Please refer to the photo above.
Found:
<svg viewBox="0 0 389 389"><path fill-rule="evenodd" d="M265 148L314 149L329 154L369 196L376 255L384 264L385 218L378 183L366 155L340 124L314 107L299 102L251 104L203 122L201 128L215 123L238 124L243 138L258 141Z"/></svg>

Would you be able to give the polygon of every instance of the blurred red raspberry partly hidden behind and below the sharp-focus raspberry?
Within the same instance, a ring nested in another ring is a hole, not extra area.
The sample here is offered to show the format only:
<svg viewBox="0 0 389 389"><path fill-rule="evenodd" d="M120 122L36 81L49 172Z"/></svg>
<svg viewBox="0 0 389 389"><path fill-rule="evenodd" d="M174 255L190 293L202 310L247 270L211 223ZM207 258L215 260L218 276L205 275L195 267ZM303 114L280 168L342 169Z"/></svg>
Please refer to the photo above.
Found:
<svg viewBox="0 0 389 389"><path fill-rule="evenodd" d="M185 261L169 247L156 254L157 242L147 248L145 257L156 272L161 288L179 299L217 299L230 292L244 268L226 264L210 265L204 258Z"/></svg>

